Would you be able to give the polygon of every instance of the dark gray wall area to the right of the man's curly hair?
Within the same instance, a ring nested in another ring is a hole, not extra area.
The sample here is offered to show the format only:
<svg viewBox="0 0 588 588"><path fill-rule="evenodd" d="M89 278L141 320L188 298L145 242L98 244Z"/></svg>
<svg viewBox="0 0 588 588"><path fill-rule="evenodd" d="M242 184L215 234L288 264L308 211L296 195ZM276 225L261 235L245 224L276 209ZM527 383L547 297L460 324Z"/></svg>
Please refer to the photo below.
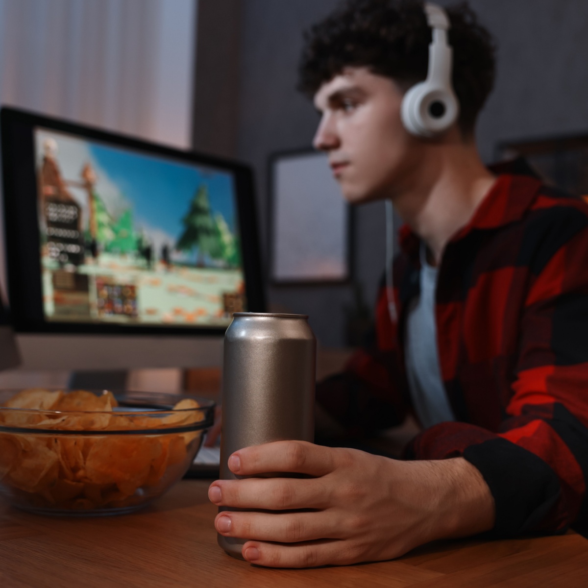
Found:
<svg viewBox="0 0 588 588"><path fill-rule="evenodd" d="M496 88L478 126L483 157L504 139L588 132L588 2L471 5L498 45Z"/></svg>

